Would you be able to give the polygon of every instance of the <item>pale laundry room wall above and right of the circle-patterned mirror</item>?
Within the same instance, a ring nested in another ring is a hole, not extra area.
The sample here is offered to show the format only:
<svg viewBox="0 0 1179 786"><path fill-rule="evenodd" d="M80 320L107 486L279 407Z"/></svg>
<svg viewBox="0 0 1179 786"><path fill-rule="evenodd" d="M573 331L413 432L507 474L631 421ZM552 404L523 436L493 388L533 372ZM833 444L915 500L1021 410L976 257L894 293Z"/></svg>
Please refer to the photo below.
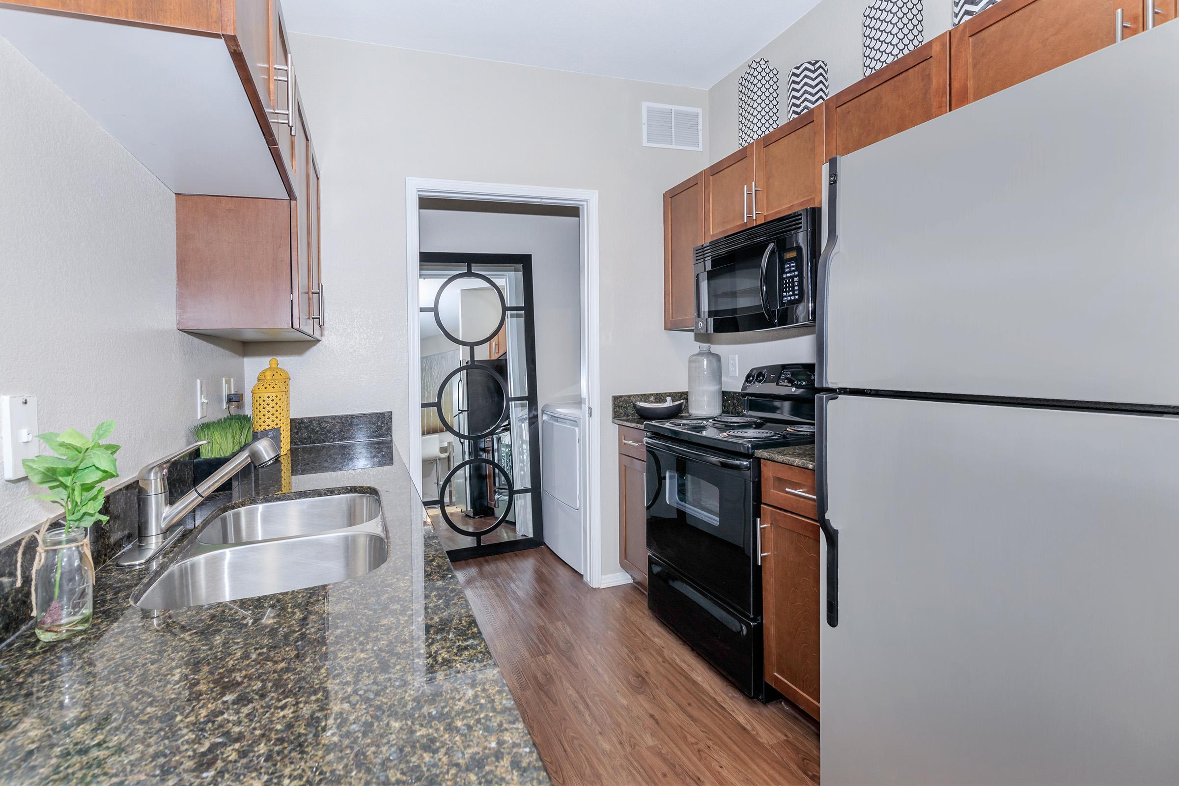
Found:
<svg viewBox="0 0 1179 786"><path fill-rule="evenodd" d="M581 397L581 227L575 217L421 211L422 251L531 253L536 403Z"/></svg>

